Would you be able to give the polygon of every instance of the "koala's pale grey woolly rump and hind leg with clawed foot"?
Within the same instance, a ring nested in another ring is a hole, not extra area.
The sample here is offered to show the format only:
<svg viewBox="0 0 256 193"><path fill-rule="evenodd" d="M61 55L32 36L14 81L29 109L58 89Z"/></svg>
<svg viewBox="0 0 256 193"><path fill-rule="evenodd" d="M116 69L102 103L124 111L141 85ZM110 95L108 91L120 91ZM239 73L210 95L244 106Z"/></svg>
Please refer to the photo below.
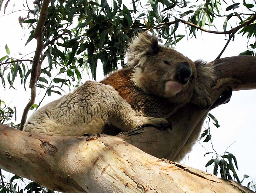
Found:
<svg viewBox="0 0 256 193"><path fill-rule="evenodd" d="M74 92L34 112L23 131L82 136L85 133L101 133L106 124L114 125L123 132L144 125L171 127L164 118L136 115L112 86L86 81Z"/></svg>

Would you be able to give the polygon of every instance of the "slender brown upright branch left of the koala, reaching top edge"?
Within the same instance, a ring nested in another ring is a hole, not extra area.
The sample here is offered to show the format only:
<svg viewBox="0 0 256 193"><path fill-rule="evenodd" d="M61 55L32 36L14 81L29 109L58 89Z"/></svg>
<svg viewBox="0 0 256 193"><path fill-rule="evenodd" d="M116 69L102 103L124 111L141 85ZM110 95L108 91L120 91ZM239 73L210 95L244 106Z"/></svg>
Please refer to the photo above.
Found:
<svg viewBox="0 0 256 193"><path fill-rule="evenodd" d="M29 87L31 88L31 97L30 97L30 101L27 103L23 111L21 122L20 122L20 130L22 130L24 127L24 124L27 119L27 113L29 112L30 107L35 103L35 97L36 97L35 83L37 81L37 72L38 72L40 57L42 54L42 50L44 49L42 30L46 20L49 3L50 3L50 0L44 0L42 2L39 20L37 22L37 25L34 31L34 37L37 41L37 46L36 46L35 56L34 56L32 68L31 68L31 77L30 77L30 84L29 84Z"/></svg>

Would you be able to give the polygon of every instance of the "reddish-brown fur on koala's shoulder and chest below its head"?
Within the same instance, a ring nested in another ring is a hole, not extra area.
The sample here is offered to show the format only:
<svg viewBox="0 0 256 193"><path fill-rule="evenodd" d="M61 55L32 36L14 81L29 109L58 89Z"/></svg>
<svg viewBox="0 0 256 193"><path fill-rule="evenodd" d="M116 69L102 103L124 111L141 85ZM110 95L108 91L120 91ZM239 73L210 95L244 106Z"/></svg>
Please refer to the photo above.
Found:
<svg viewBox="0 0 256 193"><path fill-rule="evenodd" d="M149 95L135 86L131 80L132 72L133 69L131 68L115 71L102 80L101 83L114 87L119 95L140 115L166 117L175 111L176 105L169 102L167 98Z"/></svg>

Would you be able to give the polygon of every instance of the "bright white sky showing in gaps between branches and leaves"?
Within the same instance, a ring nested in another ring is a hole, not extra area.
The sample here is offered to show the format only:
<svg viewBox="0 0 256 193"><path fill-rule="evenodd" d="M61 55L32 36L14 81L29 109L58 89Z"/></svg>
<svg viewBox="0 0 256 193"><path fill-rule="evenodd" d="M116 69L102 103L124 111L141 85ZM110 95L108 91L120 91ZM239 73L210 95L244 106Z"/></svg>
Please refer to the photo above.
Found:
<svg viewBox="0 0 256 193"><path fill-rule="evenodd" d="M15 3L17 4L18 2L16 1ZM13 2L11 1L7 7L7 13L12 10L12 4ZM2 7L2 9L3 8L4 7ZM3 10L0 12L0 15L3 15ZM6 54L5 44L9 46L12 56L14 56L14 53L18 52L22 54L29 53L36 48L35 40L32 40L26 47L24 47L28 36L23 37L25 31L24 29L22 30L19 25L19 16L20 12L16 12L9 16L0 17L0 58ZM220 22L220 25L223 25L223 21ZM202 33L202 36L198 33L197 39L186 40L184 38L177 44L175 49L192 60L203 59L205 61L212 61L219 55L225 44L226 41L224 35L207 34L204 32ZM230 42L222 57L239 55L240 52L247 49L246 45L246 37L236 35L235 41ZM19 55L16 57L19 58ZM99 66L98 69L100 70L100 68L101 67ZM100 72L98 72L98 75L99 74ZM97 80L100 79L100 77L97 78ZM27 80L29 80L29 78ZM19 85L19 83L17 83L17 85ZM38 92L39 91L37 90L37 93ZM41 95L42 94L44 94L44 91L42 91ZM28 90L28 92L25 92L23 85L17 86L17 90L4 90L0 84L0 98L1 100L4 100L6 104L15 104L18 110L17 121L20 121L22 111L29 100L29 96L30 91ZM59 95L52 93L51 97L46 97L44 104L55 100L56 98L59 98ZM38 100L40 99L41 97L38 98ZM233 153L237 158L239 164L238 175L240 179L242 179L244 174L251 176L254 180L256 179L255 99L256 90L233 92L231 101L228 104L221 105L211 111L221 125L219 128L215 128L214 126L211 127L214 147L216 151L221 154L227 147L235 142L227 151ZM36 102L38 102L38 100ZM203 145L204 148L197 143L183 163L205 171L204 166L211 157L204 157L203 155L207 152L206 149L210 152L212 150L210 143L204 143ZM213 168L210 168L209 172L213 172ZM244 185L246 186L248 181L245 182Z"/></svg>

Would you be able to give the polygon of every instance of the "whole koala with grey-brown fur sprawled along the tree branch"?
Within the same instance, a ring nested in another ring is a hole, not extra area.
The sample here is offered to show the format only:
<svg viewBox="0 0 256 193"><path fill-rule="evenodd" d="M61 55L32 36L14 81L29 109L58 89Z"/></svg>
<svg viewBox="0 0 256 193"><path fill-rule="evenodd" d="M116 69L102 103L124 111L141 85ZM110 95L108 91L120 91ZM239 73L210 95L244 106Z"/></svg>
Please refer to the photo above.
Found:
<svg viewBox="0 0 256 193"><path fill-rule="evenodd" d="M146 125L170 128L166 118L191 101L208 108L211 69L140 33L127 49L127 67L101 82L87 81L37 110L24 131L81 136L106 125L122 132Z"/></svg>

